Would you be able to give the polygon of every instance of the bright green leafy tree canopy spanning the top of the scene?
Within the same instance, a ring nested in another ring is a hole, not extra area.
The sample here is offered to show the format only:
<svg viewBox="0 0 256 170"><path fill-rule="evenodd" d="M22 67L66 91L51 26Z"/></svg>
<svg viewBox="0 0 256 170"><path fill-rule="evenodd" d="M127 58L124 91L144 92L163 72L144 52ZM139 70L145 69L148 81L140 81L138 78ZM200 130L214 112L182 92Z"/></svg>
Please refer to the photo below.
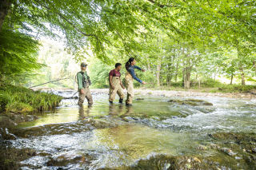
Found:
<svg viewBox="0 0 256 170"><path fill-rule="evenodd" d="M29 58L37 49L36 39L61 38L77 60L88 49L108 64L116 58L137 57L155 69L158 85L161 73L166 82L182 74L187 88L191 73L205 73L211 61L214 65L207 70L232 77L239 73L243 85L245 74L256 68L255 1L3 0L0 4L1 34L19 34L22 38L15 43L24 41L22 49L27 50L22 56L31 52ZM33 45L24 39L29 37ZM10 43L1 41L2 49ZM1 57L12 58L10 53ZM5 59L1 62L6 65Z"/></svg>

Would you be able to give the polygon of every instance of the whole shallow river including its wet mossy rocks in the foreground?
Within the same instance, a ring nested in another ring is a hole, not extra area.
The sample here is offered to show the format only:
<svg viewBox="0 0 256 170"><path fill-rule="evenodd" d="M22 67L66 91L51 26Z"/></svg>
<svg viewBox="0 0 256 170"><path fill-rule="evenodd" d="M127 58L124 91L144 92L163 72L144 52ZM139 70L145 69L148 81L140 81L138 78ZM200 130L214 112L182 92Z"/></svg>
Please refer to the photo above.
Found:
<svg viewBox="0 0 256 170"><path fill-rule="evenodd" d="M42 91L61 95L60 107L0 117L0 169L255 167L254 98L135 89L126 107L110 105L108 89L91 89L94 105L79 108L75 90Z"/></svg>

